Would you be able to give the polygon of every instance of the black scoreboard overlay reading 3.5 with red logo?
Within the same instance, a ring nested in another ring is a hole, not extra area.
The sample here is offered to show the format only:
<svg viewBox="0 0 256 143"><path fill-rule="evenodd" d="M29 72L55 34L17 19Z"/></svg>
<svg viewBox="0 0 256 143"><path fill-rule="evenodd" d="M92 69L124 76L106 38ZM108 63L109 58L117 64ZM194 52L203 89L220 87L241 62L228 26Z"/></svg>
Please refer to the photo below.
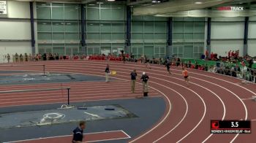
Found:
<svg viewBox="0 0 256 143"><path fill-rule="evenodd" d="M250 120L211 120L211 134L251 134Z"/></svg>

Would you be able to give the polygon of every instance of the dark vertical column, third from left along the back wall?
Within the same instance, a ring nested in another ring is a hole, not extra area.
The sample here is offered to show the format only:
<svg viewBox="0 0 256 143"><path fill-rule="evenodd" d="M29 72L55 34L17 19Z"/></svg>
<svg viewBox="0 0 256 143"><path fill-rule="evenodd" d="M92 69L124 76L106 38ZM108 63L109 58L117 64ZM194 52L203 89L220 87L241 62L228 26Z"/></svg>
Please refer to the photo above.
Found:
<svg viewBox="0 0 256 143"><path fill-rule="evenodd" d="M132 48L131 48L131 25L132 25L132 12L131 12L131 7L127 6L127 37L126 37L126 42L125 42L125 53L132 53Z"/></svg>

